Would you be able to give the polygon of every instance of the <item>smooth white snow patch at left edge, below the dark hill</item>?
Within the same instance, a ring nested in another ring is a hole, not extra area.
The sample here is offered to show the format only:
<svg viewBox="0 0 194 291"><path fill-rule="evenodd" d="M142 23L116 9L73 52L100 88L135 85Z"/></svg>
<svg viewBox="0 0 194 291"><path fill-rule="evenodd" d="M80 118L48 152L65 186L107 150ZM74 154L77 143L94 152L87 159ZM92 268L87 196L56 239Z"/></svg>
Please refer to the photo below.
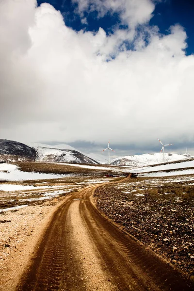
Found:
<svg viewBox="0 0 194 291"><path fill-rule="evenodd" d="M19 171L18 166L8 163L0 163L0 180L22 181L22 180L39 180L53 179L71 176L59 174L43 174Z"/></svg>

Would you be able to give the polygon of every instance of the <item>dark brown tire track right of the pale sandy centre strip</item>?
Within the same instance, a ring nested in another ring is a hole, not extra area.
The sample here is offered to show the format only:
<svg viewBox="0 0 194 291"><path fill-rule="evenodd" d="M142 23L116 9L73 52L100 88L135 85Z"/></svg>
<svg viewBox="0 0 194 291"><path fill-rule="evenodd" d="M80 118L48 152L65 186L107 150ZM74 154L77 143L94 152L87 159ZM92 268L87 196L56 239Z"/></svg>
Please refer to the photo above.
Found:
<svg viewBox="0 0 194 291"><path fill-rule="evenodd" d="M88 231L119 290L192 290L178 271L101 216L89 199L81 208Z"/></svg>

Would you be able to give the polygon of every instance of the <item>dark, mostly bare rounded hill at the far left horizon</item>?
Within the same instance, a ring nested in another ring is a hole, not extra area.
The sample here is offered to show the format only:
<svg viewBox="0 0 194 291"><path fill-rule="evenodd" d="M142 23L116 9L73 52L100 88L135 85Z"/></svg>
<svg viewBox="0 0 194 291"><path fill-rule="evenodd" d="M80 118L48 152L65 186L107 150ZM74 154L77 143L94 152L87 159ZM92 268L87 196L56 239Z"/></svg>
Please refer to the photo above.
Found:
<svg viewBox="0 0 194 291"><path fill-rule="evenodd" d="M35 161L36 151L25 144L0 139L0 157L4 161Z"/></svg>

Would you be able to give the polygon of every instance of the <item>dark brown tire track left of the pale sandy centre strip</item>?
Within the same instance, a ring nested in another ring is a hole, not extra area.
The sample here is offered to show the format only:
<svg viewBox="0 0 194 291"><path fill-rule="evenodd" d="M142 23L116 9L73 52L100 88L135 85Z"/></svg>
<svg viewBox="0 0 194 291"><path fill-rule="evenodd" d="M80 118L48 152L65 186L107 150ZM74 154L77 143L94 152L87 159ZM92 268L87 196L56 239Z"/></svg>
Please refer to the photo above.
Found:
<svg viewBox="0 0 194 291"><path fill-rule="evenodd" d="M65 223L72 198L73 196L54 213L18 290L55 291L79 290L79 286L81 288L82 281L77 282L77 275L81 270L79 266L74 266L75 258L69 242L70 228Z"/></svg>

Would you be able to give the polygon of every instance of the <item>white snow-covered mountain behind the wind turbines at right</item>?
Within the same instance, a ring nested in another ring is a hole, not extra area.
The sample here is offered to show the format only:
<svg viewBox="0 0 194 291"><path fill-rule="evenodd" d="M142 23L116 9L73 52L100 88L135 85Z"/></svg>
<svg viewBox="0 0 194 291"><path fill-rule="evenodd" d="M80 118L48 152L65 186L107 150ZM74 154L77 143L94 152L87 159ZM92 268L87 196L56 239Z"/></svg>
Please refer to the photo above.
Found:
<svg viewBox="0 0 194 291"><path fill-rule="evenodd" d="M165 162L171 162L176 160L183 160L186 157L178 154L165 154ZM163 162L163 154L143 154L134 156L125 156L113 159L111 164L122 166L147 166Z"/></svg>

